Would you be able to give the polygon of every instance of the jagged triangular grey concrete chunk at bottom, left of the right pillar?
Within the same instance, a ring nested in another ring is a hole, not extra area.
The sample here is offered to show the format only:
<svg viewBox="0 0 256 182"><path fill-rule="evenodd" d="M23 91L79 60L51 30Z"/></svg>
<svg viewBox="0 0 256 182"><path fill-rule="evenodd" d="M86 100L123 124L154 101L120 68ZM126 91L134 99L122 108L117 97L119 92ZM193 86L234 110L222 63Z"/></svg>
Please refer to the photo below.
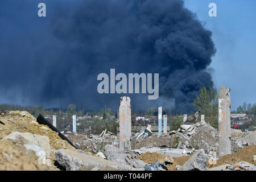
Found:
<svg viewBox="0 0 256 182"><path fill-rule="evenodd" d="M193 170L199 170L199 171L208 171L208 168L206 167L206 163L208 160L208 155L204 153L204 151L197 151L195 154L191 156L185 162L185 164L182 166L182 171L193 171Z"/></svg>

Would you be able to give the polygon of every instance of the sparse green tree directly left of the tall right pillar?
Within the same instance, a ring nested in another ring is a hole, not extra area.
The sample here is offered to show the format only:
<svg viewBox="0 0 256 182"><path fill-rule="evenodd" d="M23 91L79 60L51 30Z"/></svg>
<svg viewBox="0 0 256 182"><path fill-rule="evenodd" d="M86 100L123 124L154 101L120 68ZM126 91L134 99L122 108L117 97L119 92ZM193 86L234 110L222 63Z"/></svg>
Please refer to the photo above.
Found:
<svg viewBox="0 0 256 182"><path fill-rule="evenodd" d="M210 123L216 129L218 128L218 94L212 88L201 88L199 95L193 99L193 105L204 114L205 122Z"/></svg>

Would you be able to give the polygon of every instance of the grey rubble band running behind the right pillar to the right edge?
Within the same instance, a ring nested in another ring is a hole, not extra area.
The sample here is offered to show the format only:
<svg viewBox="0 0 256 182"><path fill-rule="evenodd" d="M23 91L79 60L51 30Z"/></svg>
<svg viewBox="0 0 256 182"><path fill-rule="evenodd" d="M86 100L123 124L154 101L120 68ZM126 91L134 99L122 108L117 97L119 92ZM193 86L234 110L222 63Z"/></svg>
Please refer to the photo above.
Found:
<svg viewBox="0 0 256 182"><path fill-rule="evenodd" d="M248 145L256 144L256 131L242 132L231 129L231 151L241 150ZM180 145L179 145L180 143ZM134 140L134 148L160 147L184 148L184 150L203 149L205 153L218 152L218 130L208 123L195 123L181 125L177 131L171 131L168 135L158 137L151 135L147 138Z"/></svg>

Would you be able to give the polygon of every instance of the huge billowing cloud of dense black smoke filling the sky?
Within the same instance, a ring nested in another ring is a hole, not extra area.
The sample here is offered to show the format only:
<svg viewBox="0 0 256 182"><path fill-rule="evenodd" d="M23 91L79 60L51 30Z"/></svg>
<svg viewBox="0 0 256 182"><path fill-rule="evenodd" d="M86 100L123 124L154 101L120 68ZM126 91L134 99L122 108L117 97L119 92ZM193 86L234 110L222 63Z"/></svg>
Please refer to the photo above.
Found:
<svg viewBox="0 0 256 182"><path fill-rule="evenodd" d="M35 23L13 31L20 36L10 34L7 46L0 43L1 67L6 71L0 92L6 101L117 109L123 94L97 92L97 75L109 74L110 68L127 75L159 73L158 100L127 94L135 109L163 105L190 112L199 89L213 86L206 71L215 53L212 33L183 1L60 1L47 12L44 20L30 18Z"/></svg>

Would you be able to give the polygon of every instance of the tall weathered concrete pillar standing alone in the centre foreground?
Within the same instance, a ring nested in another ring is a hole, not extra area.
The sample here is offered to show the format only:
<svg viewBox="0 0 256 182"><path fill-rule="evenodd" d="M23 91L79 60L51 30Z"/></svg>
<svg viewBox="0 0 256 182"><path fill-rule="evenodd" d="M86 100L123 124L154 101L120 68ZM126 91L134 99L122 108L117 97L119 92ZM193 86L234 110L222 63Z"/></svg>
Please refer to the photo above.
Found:
<svg viewBox="0 0 256 182"><path fill-rule="evenodd" d="M119 106L119 150L131 149L131 100L121 97Z"/></svg>

